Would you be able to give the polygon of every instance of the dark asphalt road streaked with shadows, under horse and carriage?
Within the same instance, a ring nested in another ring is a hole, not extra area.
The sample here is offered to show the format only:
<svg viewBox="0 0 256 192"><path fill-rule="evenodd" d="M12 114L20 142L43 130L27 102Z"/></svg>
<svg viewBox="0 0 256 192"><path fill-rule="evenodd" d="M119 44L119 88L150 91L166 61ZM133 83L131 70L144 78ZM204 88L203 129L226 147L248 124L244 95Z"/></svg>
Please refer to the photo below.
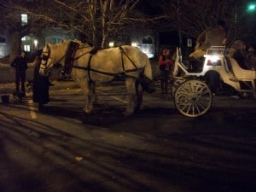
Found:
<svg viewBox="0 0 256 192"><path fill-rule="evenodd" d="M1 192L255 191L255 100L216 96L191 119L157 90L124 117L124 86L103 86L85 115L81 90L55 87L43 113L0 104Z"/></svg>

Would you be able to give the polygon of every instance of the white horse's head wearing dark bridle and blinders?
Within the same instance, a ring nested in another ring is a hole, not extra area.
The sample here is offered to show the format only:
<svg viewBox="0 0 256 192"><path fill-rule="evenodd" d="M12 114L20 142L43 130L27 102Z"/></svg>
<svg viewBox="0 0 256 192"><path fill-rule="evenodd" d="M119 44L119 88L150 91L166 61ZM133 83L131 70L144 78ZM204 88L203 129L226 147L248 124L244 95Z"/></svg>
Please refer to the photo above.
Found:
<svg viewBox="0 0 256 192"><path fill-rule="evenodd" d="M39 68L40 75L49 76L52 67L54 67L54 62L50 57L50 48L49 48L49 44L47 44L44 47L43 53L42 53L42 60Z"/></svg>

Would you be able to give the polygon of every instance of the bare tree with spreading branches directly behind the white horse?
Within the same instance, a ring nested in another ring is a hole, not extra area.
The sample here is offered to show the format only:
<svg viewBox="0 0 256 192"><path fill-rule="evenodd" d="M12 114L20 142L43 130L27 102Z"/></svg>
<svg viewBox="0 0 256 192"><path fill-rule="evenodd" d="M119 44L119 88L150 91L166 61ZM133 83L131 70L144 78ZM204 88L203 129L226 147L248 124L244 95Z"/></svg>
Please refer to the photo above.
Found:
<svg viewBox="0 0 256 192"><path fill-rule="evenodd" d="M105 48L109 37L137 20L131 12L140 0L31 0L29 4L9 1L14 3L13 9L79 32L87 41Z"/></svg>

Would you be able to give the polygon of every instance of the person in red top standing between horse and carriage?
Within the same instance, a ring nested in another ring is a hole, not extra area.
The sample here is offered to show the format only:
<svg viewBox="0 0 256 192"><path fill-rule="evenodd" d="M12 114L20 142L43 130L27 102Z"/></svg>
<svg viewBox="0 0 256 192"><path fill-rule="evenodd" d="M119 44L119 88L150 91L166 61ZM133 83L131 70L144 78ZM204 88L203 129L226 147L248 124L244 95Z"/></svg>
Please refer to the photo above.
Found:
<svg viewBox="0 0 256 192"><path fill-rule="evenodd" d="M172 72L172 55L170 55L169 49L163 49L159 57L160 66L160 87L162 93L168 92L168 84L170 80L170 75Z"/></svg>

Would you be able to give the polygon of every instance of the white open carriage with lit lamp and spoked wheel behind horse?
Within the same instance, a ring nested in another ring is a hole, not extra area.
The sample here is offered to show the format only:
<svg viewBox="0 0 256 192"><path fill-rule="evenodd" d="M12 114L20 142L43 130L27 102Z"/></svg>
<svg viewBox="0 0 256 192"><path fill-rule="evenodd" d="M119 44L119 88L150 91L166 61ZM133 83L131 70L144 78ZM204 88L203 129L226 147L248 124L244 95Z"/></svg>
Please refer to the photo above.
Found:
<svg viewBox="0 0 256 192"><path fill-rule="evenodd" d="M173 68L172 94L177 110L189 117L198 117L212 106L212 91L205 82L214 76L215 82L229 84L241 94L256 97L256 71L242 69L237 61L224 54L224 47L211 47L204 55L201 71L189 72L183 64L181 50Z"/></svg>

